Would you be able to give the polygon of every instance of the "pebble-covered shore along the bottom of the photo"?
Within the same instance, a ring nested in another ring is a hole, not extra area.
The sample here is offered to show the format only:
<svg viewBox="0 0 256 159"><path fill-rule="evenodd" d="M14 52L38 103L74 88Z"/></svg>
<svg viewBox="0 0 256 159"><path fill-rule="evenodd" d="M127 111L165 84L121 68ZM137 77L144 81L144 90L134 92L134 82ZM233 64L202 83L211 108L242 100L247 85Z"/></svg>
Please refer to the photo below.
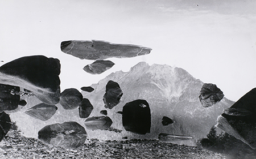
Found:
<svg viewBox="0 0 256 159"><path fill-rule="evenodd" d="M226 158L197 147L158 140L99 141L86 139L77 149L51 147L11 131L0 143L0 158Z"/></svg>

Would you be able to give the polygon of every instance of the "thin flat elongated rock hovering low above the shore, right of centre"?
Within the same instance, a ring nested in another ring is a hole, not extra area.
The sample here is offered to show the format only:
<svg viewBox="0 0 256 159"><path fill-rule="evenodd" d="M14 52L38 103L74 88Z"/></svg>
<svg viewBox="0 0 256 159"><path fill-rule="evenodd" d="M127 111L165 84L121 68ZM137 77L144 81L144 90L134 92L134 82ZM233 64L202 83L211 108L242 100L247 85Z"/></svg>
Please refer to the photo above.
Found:
<svg viewBox="0 0 256 159"><path fill-rule="evenodd" d="M171 135L171 134L165 134L160 133L158 135L158 139L163 142L167 143L175 143L179 145L195 145L196 141L191 136L180 136L180 135Z"/></svg>

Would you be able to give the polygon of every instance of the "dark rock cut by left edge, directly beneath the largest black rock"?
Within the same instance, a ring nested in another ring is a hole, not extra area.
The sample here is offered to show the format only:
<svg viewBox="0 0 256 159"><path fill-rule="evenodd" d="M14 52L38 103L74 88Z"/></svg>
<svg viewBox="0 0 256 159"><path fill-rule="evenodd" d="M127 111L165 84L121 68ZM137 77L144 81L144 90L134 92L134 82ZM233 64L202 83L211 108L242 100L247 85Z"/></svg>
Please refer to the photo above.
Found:
<svg viewBox="0 0 256 159"><path fill-rule="evenodd" d="M19 91L19 87L0 84L0 112L18 108L20 96L16 93Z"/></svg>

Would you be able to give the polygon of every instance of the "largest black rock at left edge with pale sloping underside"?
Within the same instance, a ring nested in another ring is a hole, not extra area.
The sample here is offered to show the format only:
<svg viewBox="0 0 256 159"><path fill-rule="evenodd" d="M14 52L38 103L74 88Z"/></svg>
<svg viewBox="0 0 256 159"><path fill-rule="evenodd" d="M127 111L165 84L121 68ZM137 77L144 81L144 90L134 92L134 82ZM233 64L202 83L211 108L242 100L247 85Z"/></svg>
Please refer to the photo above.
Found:
<svg viewBox="0 0 256 159"><path fill-rule="evenodd" d="M2 84L32 91L46 104L57 104L60 97L60 61L43 55L15 59L0 67Z"/></svg>

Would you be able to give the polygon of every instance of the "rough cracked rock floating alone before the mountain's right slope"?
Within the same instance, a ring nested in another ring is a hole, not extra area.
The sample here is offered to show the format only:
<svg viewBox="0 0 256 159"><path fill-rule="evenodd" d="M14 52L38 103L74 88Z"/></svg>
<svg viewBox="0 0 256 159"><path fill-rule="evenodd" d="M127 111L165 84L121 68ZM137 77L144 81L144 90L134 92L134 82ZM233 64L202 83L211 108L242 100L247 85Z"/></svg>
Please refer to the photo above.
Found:
<svg viewBox="0 0 256 159"><path fill-rule="evenodd" d="M209 107L221 101L224 97L223 92L216 84L205 83L200 91L199 99L204 107Z"/></svg>

